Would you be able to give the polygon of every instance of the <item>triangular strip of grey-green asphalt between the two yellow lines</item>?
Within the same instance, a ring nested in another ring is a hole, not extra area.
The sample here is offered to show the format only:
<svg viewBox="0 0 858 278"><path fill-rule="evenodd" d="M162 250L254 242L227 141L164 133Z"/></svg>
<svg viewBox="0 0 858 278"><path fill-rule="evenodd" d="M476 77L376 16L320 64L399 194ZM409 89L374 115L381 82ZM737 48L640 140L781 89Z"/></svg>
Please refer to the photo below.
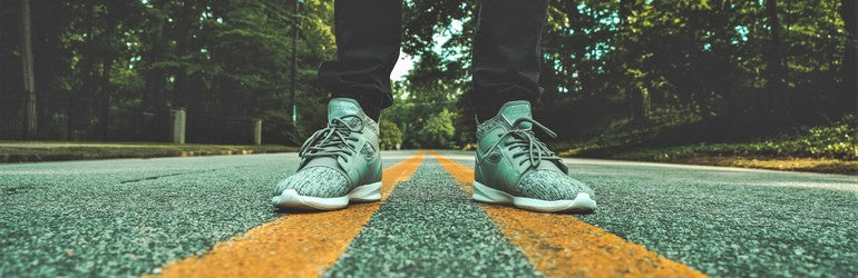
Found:
<svg viewBox="0 0 858 278"><path fill-rule="evenodd" d="M485 211L427 157L325 277L535 277Z"/></svg>

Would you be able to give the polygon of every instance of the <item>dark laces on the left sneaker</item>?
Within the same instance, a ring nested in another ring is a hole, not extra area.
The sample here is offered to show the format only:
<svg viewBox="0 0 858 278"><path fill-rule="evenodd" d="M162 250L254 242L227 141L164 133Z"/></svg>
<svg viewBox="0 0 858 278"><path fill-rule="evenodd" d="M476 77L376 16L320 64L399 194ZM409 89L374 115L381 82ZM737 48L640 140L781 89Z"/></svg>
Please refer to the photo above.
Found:
<svg viewBox="0 0 858 278"><path fill-rule="evenodd" d="M360 125L350 126L347 120L349 118L358 119ZM363 130L363 119L354 115L347 115L340 118L335 118L328 123L326 128L320 129L306 139L301 149L299 156L301 158L318 158L318 157L332 157L342 158L345 162L349 162L349 158L358 152L357 148L350 143L350 141L358 141L359 139L350 137L352 132L361 132Z"/></svg>

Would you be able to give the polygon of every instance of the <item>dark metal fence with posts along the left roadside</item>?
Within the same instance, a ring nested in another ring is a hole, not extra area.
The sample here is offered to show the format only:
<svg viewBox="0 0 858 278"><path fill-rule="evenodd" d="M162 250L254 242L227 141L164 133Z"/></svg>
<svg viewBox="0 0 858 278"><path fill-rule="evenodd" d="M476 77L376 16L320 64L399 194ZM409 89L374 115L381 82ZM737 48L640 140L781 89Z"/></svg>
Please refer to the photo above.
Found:
<svg viewBox="0 0 858 278"><path fill-rule="evenodd" d="M144 141L169 142L170 111L108 106L105 101L70 95L37 95L37 129L27 132L26 95L0 90L0 140ZM188 113L185 142L254 143L255 119ZM263 143L289 143L289 123L263 122Z"/></svg>

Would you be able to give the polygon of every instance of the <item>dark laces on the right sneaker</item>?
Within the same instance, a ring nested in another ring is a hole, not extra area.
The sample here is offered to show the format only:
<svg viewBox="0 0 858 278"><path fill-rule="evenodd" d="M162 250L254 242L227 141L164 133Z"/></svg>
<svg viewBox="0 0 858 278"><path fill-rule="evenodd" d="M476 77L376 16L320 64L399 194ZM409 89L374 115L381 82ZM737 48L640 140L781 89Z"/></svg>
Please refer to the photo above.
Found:
<svg viewBox="0 0 858 278"><path fill-rule="evenodd" d="M532 125L532 128L519 128L519 123L523 122L529 122ZM486 153L491 152L496 148L507 148L507 150L516 151L513 153L513 158L519 158L523 156L527 156L526 160L521 160L518 165L523 166L525 162L530 162L529 168L536 168L539 167L543 160L553 161L558 166L563 165L563 159L557 157L557 155L554 153L550 149L548 149L548 146L546 146L544 142L539 141L538 138L536 138L536 135L533 131L533 128L536 127L546 135L548 135L552 138L556 138L557 133L548 129L547 127L543 126L542 123L537 122L534 119L529 118L519 118L513 122L513 129L498 135L500 137L497 142L491 145L491 147L488 148L488 151ZM511 138L511 140L504 142L505 138ZM501 146L503 145L503 146ZM484 158L485 159L485 158ZM563 167L562 167L563 168Z"/></svg>

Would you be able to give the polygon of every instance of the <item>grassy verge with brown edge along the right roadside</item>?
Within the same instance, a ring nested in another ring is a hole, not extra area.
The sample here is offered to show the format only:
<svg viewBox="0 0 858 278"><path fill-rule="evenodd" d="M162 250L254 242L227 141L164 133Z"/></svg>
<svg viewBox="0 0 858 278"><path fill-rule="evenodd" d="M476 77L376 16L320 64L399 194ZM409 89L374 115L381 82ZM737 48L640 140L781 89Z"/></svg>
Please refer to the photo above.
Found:
<svg viewBox="0 0 858 278"><path fill-rule="evenodd" d="M799 127L768 138L666 147L623 147L641 132L616 132L574 145L562 156L734 166L779 170L858 173L855 117L826 126ZM634 145L632 145L634 146Z"/></svg>

